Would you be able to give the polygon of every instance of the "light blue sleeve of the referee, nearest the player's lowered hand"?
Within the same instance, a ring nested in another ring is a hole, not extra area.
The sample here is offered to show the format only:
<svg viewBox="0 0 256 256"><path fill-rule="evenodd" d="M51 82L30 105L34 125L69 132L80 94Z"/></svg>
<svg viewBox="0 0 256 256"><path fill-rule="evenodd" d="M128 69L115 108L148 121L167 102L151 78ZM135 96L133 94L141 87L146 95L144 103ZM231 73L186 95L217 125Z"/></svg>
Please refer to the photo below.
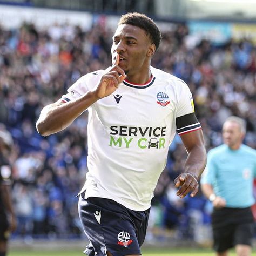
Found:
<svg viewBox="0 0 256 256"><path fill-rule="evenodd" d="M210 150L207 155L207 165L203 174L201 175L201 184L213 185L215 177L217 176L217 163L214 160L214 154Z"/></svg>

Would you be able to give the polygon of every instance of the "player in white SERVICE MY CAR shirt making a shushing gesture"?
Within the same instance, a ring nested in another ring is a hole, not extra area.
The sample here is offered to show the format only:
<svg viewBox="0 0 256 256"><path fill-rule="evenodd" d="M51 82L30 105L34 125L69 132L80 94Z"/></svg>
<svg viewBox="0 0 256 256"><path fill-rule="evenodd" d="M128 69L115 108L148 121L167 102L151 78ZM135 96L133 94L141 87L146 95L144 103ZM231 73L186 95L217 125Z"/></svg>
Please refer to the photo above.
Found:
<svg viewBox="0 0 256 256"><path fill-rule="evenodd" d="M80 78L38 119L38 132L48 136L89 110L89 172L79 193L80 219L92 243L87 255L141 255L153 191L176 132L188 152L175 180L177 195L198 192L206 164L201 126L188 86L150 65L160 41L152 19L122 16L113 35L113 66Z"/></svg>

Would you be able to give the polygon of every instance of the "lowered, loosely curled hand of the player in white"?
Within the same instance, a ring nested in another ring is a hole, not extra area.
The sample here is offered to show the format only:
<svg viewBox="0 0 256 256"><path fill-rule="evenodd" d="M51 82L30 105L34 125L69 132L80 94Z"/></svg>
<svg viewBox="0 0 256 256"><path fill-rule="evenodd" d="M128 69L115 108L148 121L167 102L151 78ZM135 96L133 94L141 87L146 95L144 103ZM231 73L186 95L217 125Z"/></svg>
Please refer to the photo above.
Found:
<svg viewBox="0 0 256 256"><path fill-rule="evenodd" d="M176 187L179 187L179 190L176 194L180 198L185 197L190 192L190 196L194 197L199 189L196 177L188 172L179 174L179 176L174 180L174 184Z"/></svg>

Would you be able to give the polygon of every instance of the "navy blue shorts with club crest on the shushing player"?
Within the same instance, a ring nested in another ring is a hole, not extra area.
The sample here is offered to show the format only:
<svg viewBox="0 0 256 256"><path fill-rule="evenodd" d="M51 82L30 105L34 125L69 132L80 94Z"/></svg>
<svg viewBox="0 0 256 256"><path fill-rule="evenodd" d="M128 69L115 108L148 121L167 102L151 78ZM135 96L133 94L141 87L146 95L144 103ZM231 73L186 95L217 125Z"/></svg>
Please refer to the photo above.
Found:
<svg viewBox="0 0 256 256"><path fill-rule="evenodd" d="M79 217L97 256L109 251L114 256L142 254L150 209L132 211L111 199L79 197ZM92 249L92 248L91 248ZM95 255L88 248L87 255Z"/></svg>

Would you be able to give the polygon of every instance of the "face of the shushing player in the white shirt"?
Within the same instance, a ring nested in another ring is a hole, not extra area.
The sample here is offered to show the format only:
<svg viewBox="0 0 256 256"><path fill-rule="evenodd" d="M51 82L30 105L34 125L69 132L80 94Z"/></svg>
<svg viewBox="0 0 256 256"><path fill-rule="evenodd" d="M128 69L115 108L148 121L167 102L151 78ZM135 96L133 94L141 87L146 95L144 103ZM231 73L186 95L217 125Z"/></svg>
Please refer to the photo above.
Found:
<svg viewBox="0 0 256 256"><path fill-rule="evenodd" d="M112 63L114 63L118 53L120 56L118 65L127 76L135 75L144 70L148 72L154 51L154 44L150 42L145 31L137 26L119 25L114 33L111 48Z"/></svg>

